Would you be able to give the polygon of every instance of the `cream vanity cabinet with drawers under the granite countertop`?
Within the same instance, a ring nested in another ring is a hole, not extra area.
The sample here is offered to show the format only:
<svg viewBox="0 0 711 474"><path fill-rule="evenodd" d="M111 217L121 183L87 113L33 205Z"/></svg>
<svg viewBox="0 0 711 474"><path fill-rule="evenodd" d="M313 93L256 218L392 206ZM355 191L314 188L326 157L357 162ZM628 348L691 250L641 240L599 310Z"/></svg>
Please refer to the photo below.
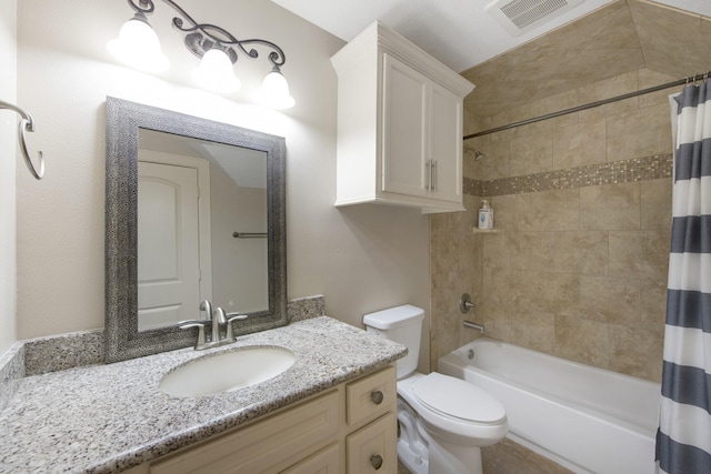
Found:
<svg viewBox="0 0 711 474"><path fill-rule="evenodd" d="M397 385L390 365L130 474L397 474Z"/></svg>

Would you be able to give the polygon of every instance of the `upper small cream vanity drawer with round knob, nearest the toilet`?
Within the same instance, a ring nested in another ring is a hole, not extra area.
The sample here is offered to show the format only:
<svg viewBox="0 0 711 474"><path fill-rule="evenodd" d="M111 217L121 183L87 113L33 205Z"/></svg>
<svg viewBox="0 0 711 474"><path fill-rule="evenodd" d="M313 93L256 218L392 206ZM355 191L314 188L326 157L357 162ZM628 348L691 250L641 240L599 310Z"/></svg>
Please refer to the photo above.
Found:
<svg viewBox="0 0 711 474"><path fill-rule="evenodd" d="M352 426L365 420L374 420L392 410L397 396L394 366L349 383L346 386L348 424Z"/></svg>

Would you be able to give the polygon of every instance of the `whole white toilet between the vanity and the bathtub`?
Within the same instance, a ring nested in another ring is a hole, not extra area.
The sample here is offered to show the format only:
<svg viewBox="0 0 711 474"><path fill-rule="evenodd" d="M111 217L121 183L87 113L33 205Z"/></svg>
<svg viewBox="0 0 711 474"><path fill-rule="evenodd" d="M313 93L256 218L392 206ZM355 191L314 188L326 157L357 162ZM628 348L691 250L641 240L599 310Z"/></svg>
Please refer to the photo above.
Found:
<svg viewBox="0 0 711 474"><path fill-rule="evenodd" d="M462 380L415 372L423 317L409 304L363 316L369 332L409 350L398 361L398 457L413 474L481 474L481 447L509 430L505 410Z"/></svg>

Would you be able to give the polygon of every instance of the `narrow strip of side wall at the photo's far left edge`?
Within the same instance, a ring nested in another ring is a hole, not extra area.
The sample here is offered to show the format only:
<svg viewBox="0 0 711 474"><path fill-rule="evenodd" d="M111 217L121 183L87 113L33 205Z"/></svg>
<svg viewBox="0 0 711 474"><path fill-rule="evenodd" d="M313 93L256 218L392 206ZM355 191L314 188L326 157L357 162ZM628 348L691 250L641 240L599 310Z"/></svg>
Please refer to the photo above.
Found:
<svg viewBox="0 0 711 474"><path fill-rule="evenodd" d="M16 103L17 0L0 0L0 100ZM14 171L18 120L14 112L0 111L0 356L16 341Z"/></svg>

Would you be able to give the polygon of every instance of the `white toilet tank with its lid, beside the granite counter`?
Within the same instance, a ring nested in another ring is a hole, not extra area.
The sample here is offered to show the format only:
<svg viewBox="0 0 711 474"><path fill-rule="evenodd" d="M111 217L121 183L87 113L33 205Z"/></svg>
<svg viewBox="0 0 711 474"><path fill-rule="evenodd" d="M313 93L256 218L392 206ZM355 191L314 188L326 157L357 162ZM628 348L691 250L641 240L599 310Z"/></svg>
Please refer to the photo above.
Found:
<svg viewBox="0 0 711 474"><path fill-rule="evenodd" d="M411 304L390 307L363 316L363 324L365 324L368 332L408 347L408 355L397 362L398 379L411 374L418 367L423 319L424 310Z"/></svg>

